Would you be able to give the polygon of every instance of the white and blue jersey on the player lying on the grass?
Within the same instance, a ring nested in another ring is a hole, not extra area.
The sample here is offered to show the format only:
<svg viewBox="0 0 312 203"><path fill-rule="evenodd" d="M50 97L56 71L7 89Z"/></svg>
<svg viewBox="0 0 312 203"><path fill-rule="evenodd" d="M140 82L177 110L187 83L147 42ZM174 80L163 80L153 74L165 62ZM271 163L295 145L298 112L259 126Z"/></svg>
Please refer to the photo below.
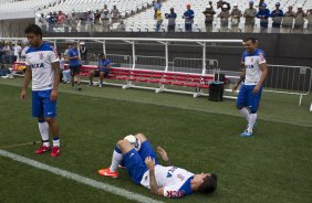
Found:
<svg viewBox="0 0 312 203"><path fill-rule="evenodd" d="M177 167L155 165L155 178L158 186L164 188L164 196L181 197L191 194L190 180L194 173ZM147 170L141 181L145 188L149 186L149 171Z"/></svg>

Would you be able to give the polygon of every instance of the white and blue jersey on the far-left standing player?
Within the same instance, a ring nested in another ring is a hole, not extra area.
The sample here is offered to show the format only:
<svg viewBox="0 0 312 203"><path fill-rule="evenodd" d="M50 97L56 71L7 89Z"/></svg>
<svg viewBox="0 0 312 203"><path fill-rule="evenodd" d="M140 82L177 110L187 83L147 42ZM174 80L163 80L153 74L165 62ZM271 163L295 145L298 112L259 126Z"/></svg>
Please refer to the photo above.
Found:
<svg viewBox="0 0 312 203"><path fill-rule="evenodd" d="M54 70L52 64L59 62L59 56L46 44L40 47L31 46L25 52L25 65L31 67L32 90L48 90L53 88Z"/></svg>

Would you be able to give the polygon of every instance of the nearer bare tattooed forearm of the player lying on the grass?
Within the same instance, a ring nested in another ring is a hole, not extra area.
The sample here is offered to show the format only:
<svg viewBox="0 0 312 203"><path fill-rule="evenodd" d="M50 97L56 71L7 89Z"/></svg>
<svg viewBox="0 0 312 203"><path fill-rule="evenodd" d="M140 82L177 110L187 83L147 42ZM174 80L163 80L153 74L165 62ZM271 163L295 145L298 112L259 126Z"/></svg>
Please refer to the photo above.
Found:
<svg viewBox="0 0 312 203"><path fill-rule="evenodd" d="M149 186L150 186L150 192L152 192L153 194L163 196L163 195L164 195L164 188L159 188L159 186L157 185L157 182L156 182L156 177L155 177L155 160L152 159L150 157L147 157L147 158L145 159L145 164L147 165L148 171L149 171Z"/></svg>

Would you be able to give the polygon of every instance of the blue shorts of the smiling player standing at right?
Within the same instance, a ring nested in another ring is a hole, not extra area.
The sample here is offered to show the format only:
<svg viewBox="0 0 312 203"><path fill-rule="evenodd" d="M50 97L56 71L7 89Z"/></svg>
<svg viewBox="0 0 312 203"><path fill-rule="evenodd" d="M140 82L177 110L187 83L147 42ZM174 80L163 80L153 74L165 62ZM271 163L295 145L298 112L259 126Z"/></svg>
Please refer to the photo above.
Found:
<svg viewBox="0 0 312 203"><path fill-rule="evenodd" d="M262 86L257 94L252 93L256 85L241 85L237 97L238 107L248 107L251 114L257 113L261 98Z"/></svg>

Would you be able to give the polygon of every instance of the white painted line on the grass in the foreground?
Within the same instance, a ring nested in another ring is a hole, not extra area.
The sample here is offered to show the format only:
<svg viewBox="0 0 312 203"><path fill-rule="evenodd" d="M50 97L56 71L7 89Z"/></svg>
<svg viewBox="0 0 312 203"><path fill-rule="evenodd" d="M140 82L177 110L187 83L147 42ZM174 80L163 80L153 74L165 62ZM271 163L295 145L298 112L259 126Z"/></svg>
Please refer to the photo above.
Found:
<svg viewBox="0 0 312 203"><path fill-rule="evenodd" d="M141 194L136 194L136 193L129 192L127 190L119 189L117 186L113 186L113 185L110 185L110 184L106 184L106 183L103 183L103 182L98 182L98 181L95 181L95 180L92 180L92 179L89 179L89 178L85 178L85 177L62 170L62 169L59 169L59 168L55 168L55 167L51 167L51 165L48 165L48 164L44 164L44 163L40 163L40 162L34 161L32 159L21 157L21 156L18 156L15 153L11 153L11 152L8 152L8 151L1 150L1 149L0 149L0 156L10 158L10 159L18 161L18 162L21 162L21 163L25 163L25 164L34 167L37 169L49 171L51 173L74 180L76 182L80 182L80 183L103 190L105 192L110 192L110 193L123 196L123 197L128 199L128 200L133 200L133 201L137 201L137 202L142 202L142 203L163 203L160 201L153 200L150 197L147 197L147 196L144 196L144 195L141 195Z"/></svg>

